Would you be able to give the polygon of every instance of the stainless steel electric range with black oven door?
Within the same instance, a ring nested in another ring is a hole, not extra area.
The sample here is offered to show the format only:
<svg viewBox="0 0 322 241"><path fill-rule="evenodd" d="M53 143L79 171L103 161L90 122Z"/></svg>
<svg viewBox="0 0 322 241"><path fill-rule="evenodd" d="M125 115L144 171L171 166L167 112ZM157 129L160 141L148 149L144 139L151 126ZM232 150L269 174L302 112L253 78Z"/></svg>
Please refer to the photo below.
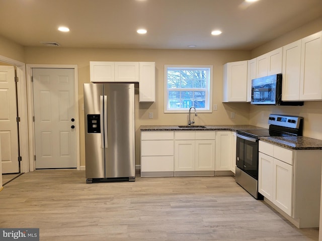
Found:
<svg viewBox="0 0 322 241"><path fill-rule="evenodd" d="M258 192L258 141L259 137L302 136L303 117L270 114L269 129L237 130L236 182L256 199Z"/></svg>

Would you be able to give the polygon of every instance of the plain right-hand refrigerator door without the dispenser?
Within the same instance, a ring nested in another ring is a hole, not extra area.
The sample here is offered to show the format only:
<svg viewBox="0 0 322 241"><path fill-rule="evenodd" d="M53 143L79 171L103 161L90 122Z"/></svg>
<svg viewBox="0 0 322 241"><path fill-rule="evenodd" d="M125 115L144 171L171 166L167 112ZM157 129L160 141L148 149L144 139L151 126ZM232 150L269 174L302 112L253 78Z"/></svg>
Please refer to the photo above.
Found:
<svg viewBox="0 0 322 241"><path fill-rule="evenodd" d="M134 84L106 83L106 178L135 177Z"/></svg>

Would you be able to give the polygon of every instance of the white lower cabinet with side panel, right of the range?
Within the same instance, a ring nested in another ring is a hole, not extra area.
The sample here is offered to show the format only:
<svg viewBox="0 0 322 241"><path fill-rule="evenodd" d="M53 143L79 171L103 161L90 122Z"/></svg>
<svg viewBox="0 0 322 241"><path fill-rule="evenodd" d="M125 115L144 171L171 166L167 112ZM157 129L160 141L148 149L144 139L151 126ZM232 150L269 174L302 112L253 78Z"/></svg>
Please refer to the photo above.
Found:
<svg viewBox="0 0 322 241"><path fill-rule="evenodd" d="M259 192L299 228L319 226L321 155L259 142Z"/></svg>

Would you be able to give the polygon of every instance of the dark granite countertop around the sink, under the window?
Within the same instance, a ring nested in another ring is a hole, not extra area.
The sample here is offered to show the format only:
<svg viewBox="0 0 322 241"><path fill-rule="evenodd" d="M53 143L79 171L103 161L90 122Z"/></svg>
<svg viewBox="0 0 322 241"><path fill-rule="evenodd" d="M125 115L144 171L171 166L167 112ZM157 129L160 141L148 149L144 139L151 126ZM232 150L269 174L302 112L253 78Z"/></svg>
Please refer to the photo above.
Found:
<svg viewBox="0 0 322 241"><path fill-rule="evenodd" d="M185 126L185 125L182 125ZM197 126L197 125L196 125ZM233 131L236 130L247 130L247 129L266 129L262 127L256 127L251 125L202 125L206 128L180 128L178 126L140 126L141 132L151 132L151 131Z"/></svg>

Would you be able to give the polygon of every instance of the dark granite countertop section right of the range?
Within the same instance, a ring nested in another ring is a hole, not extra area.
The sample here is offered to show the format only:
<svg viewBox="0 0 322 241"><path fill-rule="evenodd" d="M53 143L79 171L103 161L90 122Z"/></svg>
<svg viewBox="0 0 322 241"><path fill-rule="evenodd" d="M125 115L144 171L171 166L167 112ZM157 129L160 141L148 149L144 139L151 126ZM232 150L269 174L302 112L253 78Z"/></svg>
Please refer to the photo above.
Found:
<svg viewBox="0 0 322 241"><path fill-rule="evenodd" d="M259 139L293 150L322 150L322 140L309 137L259 137Z"/></svg>

